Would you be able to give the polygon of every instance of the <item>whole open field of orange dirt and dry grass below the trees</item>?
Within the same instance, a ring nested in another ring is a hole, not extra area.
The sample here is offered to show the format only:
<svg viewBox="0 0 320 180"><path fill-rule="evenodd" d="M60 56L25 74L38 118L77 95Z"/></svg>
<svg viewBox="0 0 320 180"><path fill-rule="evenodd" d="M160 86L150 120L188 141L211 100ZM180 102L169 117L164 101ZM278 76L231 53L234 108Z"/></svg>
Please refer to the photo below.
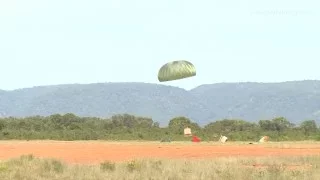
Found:
<svg viewBox="0 0 320 180"><path fill-rule="evenodd" d="M0 141L0 179L320 179L318 142Z"/></svg>

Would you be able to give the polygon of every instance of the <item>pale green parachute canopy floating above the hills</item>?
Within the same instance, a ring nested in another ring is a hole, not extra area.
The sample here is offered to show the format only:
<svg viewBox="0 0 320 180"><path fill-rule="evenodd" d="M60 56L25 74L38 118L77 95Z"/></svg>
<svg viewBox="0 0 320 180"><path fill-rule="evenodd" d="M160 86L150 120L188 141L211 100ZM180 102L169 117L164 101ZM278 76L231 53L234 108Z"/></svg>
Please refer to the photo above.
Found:
<svg viewBox="0 0 320 180"><path fill-rule="evenodd" d="M194 65L185 60L172 61L163 65L158 72L160 82L184 79L196 75Z"/></svg>

